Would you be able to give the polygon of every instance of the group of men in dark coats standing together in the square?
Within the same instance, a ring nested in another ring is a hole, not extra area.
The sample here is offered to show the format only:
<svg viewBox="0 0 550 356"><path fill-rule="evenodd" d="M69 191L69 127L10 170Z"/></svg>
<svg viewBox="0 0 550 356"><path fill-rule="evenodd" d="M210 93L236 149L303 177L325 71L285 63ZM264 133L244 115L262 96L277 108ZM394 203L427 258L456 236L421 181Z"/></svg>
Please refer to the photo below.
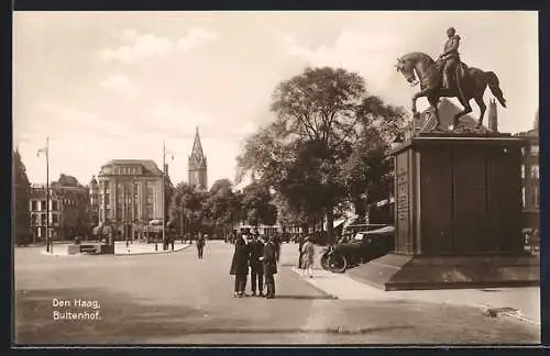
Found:
<svg viewBox="0 0 550 356"><path fill-rule="evenodd" d="M235 238L235 249L229 274L235 276L234 297L245 297L249 271L251 275L252 297L275 298L275 277L280 247L274 236L258 234L242 235ZM264 279L266 293L264 294ZM257 293L256 293L257 292Z"/></svg>

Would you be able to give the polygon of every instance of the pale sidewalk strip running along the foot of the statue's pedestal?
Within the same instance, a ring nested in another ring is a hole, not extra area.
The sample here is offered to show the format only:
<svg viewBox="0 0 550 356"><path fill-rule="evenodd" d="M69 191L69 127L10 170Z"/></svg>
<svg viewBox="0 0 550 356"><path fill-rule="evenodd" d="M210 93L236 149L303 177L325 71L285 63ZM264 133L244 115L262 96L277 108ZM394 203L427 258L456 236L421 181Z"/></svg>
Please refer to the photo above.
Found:
<svg viewBox="0 0 550 356"><path fill-rule="evenodd" d="M290 247L290 246L289 246ZM295 252L296 251L296 252ZM317 247L320 252L320 248ZM297 248L284 248L287 255L296 255ZM290 257L290 256L288 256ZM320 267L320 254L316 260L314 278L302 276L301 270L292 269L316 288L343 300L415 300L432 303L471 305L484 312L519 319L540 326L540 288L491 288L491 289L439 289L384 291L348 274L332 274Z"/></svg>

